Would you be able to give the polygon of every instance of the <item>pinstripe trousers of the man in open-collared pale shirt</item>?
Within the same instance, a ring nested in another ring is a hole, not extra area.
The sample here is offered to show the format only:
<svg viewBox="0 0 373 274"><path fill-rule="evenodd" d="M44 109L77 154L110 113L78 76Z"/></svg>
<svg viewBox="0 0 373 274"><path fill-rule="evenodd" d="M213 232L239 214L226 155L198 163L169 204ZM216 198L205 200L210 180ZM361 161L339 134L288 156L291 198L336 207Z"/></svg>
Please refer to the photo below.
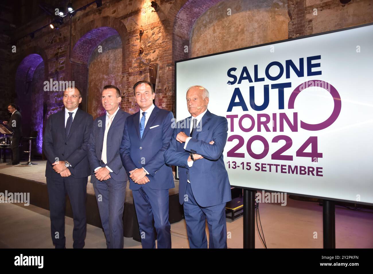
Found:
<svg viewBox="0 0 373 274"><path fill-rule="evenodd" d="M94 176L94 175L91 175ZM93 183L107 248L123 248L123 209L127 182L113 178Z"/></svg>

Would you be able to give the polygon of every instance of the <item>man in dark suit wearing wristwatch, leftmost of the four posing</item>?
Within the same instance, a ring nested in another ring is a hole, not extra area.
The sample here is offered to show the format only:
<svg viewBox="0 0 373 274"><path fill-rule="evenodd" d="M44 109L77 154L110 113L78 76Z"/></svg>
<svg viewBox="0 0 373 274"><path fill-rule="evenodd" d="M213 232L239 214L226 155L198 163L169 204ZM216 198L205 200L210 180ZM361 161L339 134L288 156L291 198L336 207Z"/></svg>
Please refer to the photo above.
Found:
<svg viewBox="0 0 373 274"><path fill-rule="evenodd" d="M90 165L87 145L93 118L78 108L82 101L77 88L63 92L65 109L50 115L43 136L47 157L46 177L51 235L56 248L65 248L65 199L73 211L73 248L83 248L87 232L85 203Z"/></svg>

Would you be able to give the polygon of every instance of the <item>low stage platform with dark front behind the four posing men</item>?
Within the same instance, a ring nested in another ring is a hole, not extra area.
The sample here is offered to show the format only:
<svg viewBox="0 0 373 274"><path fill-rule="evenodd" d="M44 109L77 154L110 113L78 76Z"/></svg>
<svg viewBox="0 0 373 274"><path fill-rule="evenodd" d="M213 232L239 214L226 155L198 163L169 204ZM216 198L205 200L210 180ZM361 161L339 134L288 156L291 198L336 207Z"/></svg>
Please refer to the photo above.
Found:
<svg viewBox="0 0 373 274"><path fill-rule="evenodd" d="M47 161L32 161L37 165L25 166L0 164L0 192L29 192L30 204L49 210L47 181L45 177L45 169ZM101 220L98 212L97 201L94 196L93 185L88 177L87 184L87 223L100 227ZM179 181L175 180L175 188L169 190L169 220L170 223L179 222L184 217L184 211L179 204ZM68 197L66 198L66 213L68 217L72 217L72 209ZM127 182L125 206L123 213L123 236L132 237L140 241L140 232L138 229L135 207L133 204L132 190L129 189Z"/></svg>

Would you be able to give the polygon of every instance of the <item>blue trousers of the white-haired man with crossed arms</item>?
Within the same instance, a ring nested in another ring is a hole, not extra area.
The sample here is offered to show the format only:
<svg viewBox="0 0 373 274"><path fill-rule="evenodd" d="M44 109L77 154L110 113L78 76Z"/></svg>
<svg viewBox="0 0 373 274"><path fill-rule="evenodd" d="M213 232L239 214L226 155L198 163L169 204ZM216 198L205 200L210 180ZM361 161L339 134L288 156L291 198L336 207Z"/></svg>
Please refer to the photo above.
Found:
<svg viewBox="0 0 373 274"><path fill-rule="evenodd" d="M195 201L191 185L186 184L184 216L190 248L207 248L206 219L209 227L209 248L227 248L226 203L201 207Z"/></svg>

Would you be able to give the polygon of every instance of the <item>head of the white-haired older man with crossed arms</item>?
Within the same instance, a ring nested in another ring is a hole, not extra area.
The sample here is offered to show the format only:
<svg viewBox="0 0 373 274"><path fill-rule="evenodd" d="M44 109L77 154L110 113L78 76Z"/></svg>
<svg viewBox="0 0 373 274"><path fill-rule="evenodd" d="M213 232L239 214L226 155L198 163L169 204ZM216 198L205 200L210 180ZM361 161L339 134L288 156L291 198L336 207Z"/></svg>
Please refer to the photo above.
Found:
<svg viewBox="0 0 373 274"><path fill-rule="evenodd" d="M197 117L207 109L209 91L203 86L191 86L186 92L186 104L193 117Z"/></svg>

